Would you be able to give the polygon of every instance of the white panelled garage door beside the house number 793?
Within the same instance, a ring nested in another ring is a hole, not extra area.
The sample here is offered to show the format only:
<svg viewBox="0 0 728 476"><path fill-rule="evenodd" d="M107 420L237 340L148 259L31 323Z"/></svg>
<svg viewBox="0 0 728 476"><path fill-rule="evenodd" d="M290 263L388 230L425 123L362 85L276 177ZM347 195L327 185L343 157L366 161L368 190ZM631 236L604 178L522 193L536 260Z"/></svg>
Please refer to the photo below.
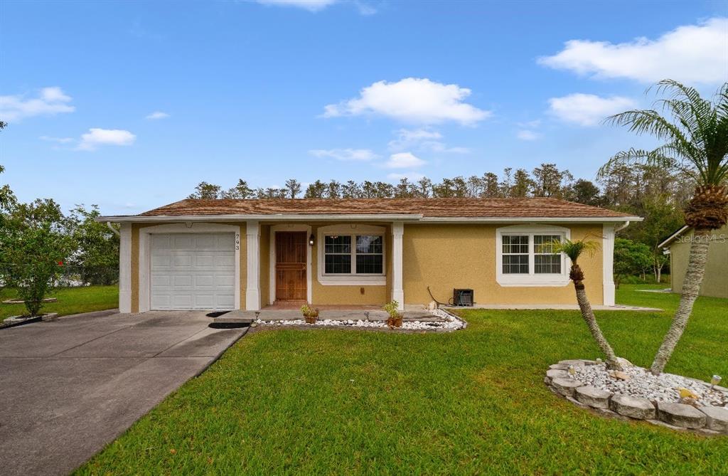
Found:
<svg viewBox="0 0 728 476"><path fill-rule="evenodd" d="M151 235L151 309L235 307L233 233Z"/></svg>

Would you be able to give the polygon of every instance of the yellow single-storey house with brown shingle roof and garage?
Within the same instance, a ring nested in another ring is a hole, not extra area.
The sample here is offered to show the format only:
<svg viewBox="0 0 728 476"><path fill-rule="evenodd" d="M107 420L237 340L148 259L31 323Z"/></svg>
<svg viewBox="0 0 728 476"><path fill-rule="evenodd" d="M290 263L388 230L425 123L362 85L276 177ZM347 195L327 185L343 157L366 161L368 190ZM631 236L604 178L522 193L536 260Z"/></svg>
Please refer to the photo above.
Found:
<svg viewBox="0 0 728 476"><path fill-rule="evenodd" d="M121 224L119 308L255 310L423 305L473 289L479 304L573 304L568 258L539 243L587 238L594 304L614 305L614 229L641 218L551 198L181 200Z"/></svg>

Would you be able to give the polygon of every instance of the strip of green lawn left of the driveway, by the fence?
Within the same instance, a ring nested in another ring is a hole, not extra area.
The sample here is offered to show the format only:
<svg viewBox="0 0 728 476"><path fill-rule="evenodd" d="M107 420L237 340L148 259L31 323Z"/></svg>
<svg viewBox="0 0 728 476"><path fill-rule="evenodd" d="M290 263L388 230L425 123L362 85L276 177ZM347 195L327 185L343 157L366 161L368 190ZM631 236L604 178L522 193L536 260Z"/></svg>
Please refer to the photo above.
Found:
<svg viewBox="0 0 728 476"><path fill-rule="evenodd" d="M17 297L14 289L0 290L0 301ZM87 286L81 288L60 288L47 297L57 297L57 303L47 303L41 312L58 313L60 316L90 311L103 311L119 306L119 286ZM0 321L10 316L25 314L22 304L1 304Z"/></svg>

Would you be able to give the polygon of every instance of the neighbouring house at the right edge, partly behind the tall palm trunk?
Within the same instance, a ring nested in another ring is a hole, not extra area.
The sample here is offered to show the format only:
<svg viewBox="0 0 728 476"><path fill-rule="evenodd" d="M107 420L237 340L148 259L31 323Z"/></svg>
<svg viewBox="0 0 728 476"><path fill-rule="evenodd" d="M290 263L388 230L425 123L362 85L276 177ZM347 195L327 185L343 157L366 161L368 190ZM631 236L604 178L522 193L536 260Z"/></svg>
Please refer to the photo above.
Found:
<svg viewBox="0 0 728 476"><path fill-rule="evenodd" d="M670 254L670 282L673 292L681 292L687 270L692 228L682 227L670 238L662 241L658 248ZM700 285L701 296L728 297L728 225L711 233L708 246L708 261L705 263L705 276Z"/></svg>

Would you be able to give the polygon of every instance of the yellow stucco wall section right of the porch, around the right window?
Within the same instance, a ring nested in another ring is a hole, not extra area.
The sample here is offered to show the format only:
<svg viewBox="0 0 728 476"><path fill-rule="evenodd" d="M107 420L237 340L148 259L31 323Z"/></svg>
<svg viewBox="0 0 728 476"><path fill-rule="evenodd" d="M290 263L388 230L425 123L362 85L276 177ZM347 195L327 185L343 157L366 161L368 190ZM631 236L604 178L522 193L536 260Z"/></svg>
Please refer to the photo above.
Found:
<svg viewBox="0 0 728 476"><path fill-rule="evenodd" d="M571 228L571 239L600 241L601 225L554 224ZM473 289L479 304L574 304L574 286L505 287L496 282L496 228L507 225L405 225L403 275L405 303L440 301L454 288ZM601 249L579 262L594 304L604 301Z"/></svg>

